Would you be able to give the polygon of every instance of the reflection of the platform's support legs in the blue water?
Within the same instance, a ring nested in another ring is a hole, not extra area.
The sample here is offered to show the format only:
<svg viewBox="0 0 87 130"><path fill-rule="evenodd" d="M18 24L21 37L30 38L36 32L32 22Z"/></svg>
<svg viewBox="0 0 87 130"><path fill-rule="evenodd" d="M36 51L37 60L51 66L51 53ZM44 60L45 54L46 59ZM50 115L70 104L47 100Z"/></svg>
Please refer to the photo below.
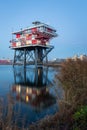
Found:
<svg viewBox="0 0 87 130"><path fill-rule="evenodd" d="M30 86L30 87L43 87L49 82L48 68L25 68L23 70L14 68L15 84Z"/></svg>

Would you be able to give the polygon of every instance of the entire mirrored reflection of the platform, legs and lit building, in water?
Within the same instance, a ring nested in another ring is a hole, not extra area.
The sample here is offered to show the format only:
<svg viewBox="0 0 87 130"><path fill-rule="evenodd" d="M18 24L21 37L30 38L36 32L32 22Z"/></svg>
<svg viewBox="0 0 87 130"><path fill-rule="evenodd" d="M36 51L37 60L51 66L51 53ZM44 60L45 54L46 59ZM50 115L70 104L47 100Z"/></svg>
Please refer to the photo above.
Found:
<svg viewBox="0 0 87 130"><path fill-rule="evenodd" d="M37 110L54 104L56 100L49 92L52 83L47 74L48 68L35 68L28 71L14 69L15 84L12 86L12 92L15 93L16 100L29 103Z"/></svg>

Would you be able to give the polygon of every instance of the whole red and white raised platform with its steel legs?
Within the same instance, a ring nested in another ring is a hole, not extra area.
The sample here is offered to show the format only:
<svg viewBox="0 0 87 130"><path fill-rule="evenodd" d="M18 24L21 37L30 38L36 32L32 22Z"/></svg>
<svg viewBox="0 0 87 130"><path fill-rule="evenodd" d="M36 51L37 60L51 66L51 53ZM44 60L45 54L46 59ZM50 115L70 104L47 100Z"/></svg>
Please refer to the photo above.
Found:
<svg viewBox="0 0 87 130"><path fill-rule="evenodd" d="M54 48L49 42L57 37L56 30L35 21L29 28L12 33L10 48L14 50L14 65L43 65L48 62L48 53ZM15 38L14 38L15 36Z"/></svg>

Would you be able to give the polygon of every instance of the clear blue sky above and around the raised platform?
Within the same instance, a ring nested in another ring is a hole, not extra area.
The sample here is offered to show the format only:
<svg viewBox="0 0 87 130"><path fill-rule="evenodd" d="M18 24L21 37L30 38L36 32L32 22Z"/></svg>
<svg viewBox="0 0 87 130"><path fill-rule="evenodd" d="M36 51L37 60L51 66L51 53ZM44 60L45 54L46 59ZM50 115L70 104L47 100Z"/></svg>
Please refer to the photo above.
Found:
<svg viewBox="0 0 87 130"><path fill-rule="evenodd" d="M87 55L87 0L0 0L0 58L13 58L12 32L34 21L57 30L49 59Z"/></svg>

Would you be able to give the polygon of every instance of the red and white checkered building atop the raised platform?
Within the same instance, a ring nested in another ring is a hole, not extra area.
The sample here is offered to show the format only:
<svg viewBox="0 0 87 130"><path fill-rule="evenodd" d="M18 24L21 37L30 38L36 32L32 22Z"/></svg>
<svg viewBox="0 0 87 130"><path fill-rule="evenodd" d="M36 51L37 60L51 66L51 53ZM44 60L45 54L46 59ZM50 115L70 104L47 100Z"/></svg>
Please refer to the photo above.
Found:
<svg viewBox="0 0 87 130"><path fill-rule="evenodd" d="M35 26L33 28L31 27L29 29L13 33L16 35L16 38L11 41L11 46L18 47L28 44L48 45L49 40L56 36L55 30L46 24Z"/></svg>

